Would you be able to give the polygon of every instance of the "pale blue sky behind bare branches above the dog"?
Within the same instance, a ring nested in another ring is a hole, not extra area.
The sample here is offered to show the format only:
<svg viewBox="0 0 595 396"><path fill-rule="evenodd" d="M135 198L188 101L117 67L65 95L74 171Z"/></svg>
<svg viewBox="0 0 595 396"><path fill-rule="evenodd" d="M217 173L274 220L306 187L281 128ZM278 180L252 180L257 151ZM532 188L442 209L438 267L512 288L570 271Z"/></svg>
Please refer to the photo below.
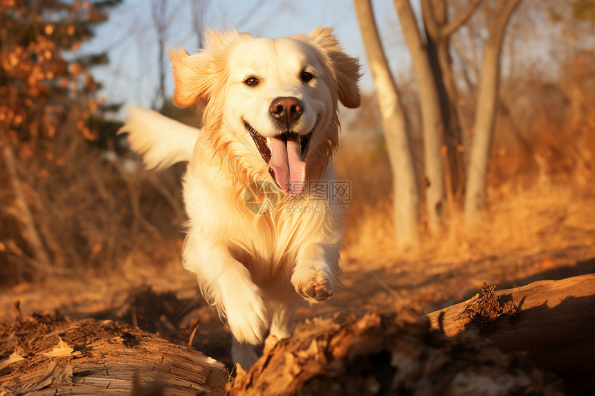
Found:
<svg viewBox="0 0 595 396"><path fill-rule="evenodd" d="M373 1L383 45L396 75L407 73L410 60L399 22L390 0ZM167 43L181 45L190 53L198 48L192 31L190 0L168 0ZM219 29L237 26L257 37L282 37L308 32L318 26L333 26L347 53L360 57L365 91L374 88L351 0L210 0L203 17L206 26ZM158 84L158 39L152 20L152 0L125 0L110 12L109 21L96 30L95 38L82 48L86 52L107 50L110 63L93 70L104 84L107 102L149 107ZM167 57L166 57L167 62ZM169 64L167 70L170 70ZM166 93L173 92L167 74Z"/></svg>

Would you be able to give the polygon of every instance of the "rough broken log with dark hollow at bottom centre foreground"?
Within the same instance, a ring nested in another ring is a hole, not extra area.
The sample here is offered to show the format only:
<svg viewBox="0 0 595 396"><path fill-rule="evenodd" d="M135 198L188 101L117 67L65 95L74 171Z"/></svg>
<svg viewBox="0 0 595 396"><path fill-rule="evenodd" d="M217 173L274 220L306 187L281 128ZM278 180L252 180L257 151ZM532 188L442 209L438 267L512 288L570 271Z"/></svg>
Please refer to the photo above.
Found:
<svg viewBox="0 0 595 396"><path fill-rule="evenodd" d="M562 395L561 381L473 332L446 337L407 311L315 319L265 348L229 395Z"/></svg>

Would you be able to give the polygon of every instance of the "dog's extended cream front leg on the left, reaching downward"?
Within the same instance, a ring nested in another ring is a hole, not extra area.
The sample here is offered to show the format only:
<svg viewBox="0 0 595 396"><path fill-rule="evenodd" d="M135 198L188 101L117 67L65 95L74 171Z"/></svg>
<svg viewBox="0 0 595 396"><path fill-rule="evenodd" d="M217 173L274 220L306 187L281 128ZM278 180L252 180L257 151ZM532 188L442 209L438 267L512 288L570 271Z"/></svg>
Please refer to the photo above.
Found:
<svg viewBox="0 0 595 396"><path fill-rule="evenodd" d="M205 299L227 317L235 340L241 344L262 343L270 320L262 290L252 281L248 269L225 247L192 230L184 243L183 261L187 270L198 275ZM232 357L235 361L246 360L244 356Z"/></svg>

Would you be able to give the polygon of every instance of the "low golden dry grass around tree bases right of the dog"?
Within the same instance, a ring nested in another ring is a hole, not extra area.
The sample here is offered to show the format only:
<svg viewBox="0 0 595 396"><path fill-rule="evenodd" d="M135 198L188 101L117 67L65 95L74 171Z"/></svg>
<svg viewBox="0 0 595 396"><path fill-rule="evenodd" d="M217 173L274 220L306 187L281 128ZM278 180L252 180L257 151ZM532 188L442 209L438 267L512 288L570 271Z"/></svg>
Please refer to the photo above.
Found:
<svg viewBox="0 0 595 396"><path fill-rule="evenodd" d="M382 252L408 261L455 262L595 244L595 196L571 183L515 188L504 199L492 200L473 227L464 226L461 211L452 211L439 234L426 235L419 249L406 251L393 247L390 199L379 199L376 207L348 218L347 252L360 258Z"/></svg>

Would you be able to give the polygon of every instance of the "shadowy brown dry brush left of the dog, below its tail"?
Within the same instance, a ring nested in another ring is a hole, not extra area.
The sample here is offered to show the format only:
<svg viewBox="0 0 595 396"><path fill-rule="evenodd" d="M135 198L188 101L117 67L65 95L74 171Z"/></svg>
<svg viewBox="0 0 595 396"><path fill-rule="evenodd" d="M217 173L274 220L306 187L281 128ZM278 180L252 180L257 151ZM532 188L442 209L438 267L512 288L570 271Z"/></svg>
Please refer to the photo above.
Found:
<svg viewBox="0 0 595 396"><path fill-rule="evenodd" d="M107 276L131 265L179 262L179 228L185 220L179 169L127 171L120 160L103 159L98 149L69 132L64 130L52 155L26 160L15 155L29 217L16 205L14 180L1 174L0 285L53 275ZM26 220L39 234L45 261L35 255L23 231Z"/></svg>

